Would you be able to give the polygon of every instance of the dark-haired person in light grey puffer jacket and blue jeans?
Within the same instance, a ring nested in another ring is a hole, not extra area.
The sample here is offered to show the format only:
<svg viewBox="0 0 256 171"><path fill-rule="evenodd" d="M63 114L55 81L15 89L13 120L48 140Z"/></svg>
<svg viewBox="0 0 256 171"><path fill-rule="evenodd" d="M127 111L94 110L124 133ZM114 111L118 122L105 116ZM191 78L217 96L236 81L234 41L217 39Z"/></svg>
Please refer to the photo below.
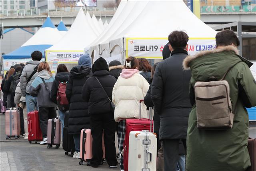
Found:
<svg viewBox="0 0 256 171"><path fill-rule="evenodd" d="M29 94L29 87L37 77L38 72L36 67L40 64L40 60L42 59L42 53L40 51L34 51L31 54L32 60L26 63L26 66L23 68L23 71L20 76L20 90L22 96L26 96L26 106L27 111L34 111L37 109L37 97Z"/></svg>

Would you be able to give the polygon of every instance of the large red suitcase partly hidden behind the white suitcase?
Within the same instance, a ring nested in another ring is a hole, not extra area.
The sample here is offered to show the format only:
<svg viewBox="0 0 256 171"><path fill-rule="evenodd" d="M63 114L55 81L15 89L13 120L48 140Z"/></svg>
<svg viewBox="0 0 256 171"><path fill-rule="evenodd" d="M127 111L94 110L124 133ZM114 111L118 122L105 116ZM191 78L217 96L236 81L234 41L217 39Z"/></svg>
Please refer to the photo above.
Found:
<svg viewBox="0 0 256 171"><path fill-rule="evenodd" d="M144 100L140 100L140 109L141 103ZM140 110L141 112L141 110ZM151 109L150 109L151 112ZM140 113L141 117L141 113ZM150 114L150 118L152 118L152 113ZM153 121L150 119L126 119L126 126L125 126L125 138L124 138L124 171L128 171L128 154L129 154L129 135L130 131L142 131L148 130L153 132ZM151 129L150 129L151 127Z"/></svg>

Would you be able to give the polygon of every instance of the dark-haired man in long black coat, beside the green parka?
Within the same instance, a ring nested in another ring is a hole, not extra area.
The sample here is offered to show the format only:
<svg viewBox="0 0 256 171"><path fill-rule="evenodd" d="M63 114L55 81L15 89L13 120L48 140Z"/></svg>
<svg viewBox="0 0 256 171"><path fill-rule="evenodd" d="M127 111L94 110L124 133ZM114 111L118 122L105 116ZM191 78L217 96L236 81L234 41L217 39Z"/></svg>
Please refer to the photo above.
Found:
<svg viewBox="0 0 256 171"><path fill-rule="evenodd" d="M182 68L182 62L188 56L188 35L174 31L168 40L171 56L156 67L151 99L161 120L159 138L164 147L164 171L176 171L180 140L186 151L188 115L191 111L188 95L191 72Z"/></svg>

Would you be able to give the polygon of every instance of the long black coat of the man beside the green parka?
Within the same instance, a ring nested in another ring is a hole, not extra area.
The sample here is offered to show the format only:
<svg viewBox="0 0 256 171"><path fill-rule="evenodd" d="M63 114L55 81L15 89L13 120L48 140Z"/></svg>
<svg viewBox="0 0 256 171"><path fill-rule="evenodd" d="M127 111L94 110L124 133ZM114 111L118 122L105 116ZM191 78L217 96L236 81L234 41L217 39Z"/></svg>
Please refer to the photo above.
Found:
<svg viewBox="0 0 256 171"><path fill-rule="evenodd" d="M151 88L154 110L160 115L160 140L186 139L188 115L191 111L188 87L191 72L182 62L188 53L174 50L170 58L156 67Z"/></svg>

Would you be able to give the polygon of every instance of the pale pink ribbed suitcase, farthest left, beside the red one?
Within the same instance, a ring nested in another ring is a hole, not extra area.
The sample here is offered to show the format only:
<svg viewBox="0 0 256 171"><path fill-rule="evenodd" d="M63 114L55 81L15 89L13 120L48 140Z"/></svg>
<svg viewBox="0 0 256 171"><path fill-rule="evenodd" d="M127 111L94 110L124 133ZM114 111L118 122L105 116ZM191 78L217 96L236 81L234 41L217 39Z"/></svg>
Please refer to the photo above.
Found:
<svg viewBox="0 0 256 171"><path fill-rule="evenodd" d="M5 134L6 139L20 139L20 113L16 108L5 112Z"/></svg>

